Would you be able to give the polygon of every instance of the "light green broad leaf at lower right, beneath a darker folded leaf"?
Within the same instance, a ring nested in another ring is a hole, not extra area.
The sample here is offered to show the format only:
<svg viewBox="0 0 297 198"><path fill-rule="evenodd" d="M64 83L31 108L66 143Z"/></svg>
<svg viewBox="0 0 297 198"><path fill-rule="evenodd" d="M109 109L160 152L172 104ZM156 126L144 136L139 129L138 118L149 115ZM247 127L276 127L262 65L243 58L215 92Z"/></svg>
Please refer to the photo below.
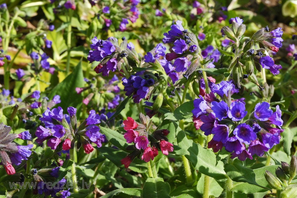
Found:
<svg viewBox="0 0 297 198"><path fill-rule="evenodd" d="M266 166L266 167L257 168L257 169L253 170L252 175L255 174L255 182L259 186L256 186L256 185L253 185L253 184L250 184L250 183L245 183L245 182L244 183L243 182L233 182L232 190L235 191L235 192L239 192L239 193L256 193L256 192L266 192L266 191L268 191L270 186L269 186L268 182L266 181L266 179L264 177L264 172L266 170L268 170L273 175L275 175L274 173L275 173L275 170L277 169L277 167L279 167L279 166L271 165L271 166ZM249 177L249 175L247 175L248 173L245 173L245 174L246 174L247 177ZM260 187L260 186L263 186L266 189L264 189L263 187Z"/></svg>

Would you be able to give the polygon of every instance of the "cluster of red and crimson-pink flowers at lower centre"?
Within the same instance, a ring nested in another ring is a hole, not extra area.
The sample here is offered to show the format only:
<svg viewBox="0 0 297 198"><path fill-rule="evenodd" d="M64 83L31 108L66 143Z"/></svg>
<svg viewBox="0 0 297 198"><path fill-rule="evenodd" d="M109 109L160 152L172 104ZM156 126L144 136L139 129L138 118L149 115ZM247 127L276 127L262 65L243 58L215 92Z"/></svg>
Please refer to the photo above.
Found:
<svg viewBox="0 0 297 198"><path fill-rule="evenodd" d="M139 119L141 123L130 117L123 121L124 130L127 131L124 134L124 138L127 140L127 143L134 143L131 149L134 151L121 160L121 164L124 164L125 168L129 167L135 157L141 156L143 161L149 162L158 155L158 149L164 155L168 155L168 152L173 151L173 144L168 142L166 137L169 134L168 130L156 130L149 134L149 128L152 124L149 116L144 116L140 113Z"/></svg>

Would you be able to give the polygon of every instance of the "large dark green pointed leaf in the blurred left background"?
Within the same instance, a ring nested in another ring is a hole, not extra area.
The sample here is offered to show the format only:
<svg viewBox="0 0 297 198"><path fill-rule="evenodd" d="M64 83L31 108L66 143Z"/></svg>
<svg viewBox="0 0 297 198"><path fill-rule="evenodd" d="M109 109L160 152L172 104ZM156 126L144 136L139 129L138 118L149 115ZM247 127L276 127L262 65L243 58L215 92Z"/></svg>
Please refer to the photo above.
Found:
<svg viewBox="0 0 297 198"><path fill-rule="evenodd" d="M53 88L48 97L53 98L53 96L59 95L61 99L59 106L62 107L64 111L67 110L67 107L80 109L83 96L81 96L81 94L77 94L75 88L83 86L83 70L81 69L80 61L73 72Z"/></svg>

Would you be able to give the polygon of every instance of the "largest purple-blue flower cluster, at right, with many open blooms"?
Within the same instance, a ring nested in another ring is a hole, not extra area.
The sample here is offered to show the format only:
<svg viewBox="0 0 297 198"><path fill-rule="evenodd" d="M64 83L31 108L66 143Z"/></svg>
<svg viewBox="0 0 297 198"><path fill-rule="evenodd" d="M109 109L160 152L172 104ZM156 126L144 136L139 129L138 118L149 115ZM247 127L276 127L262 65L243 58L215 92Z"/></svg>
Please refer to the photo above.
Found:
<svg viewBox="0 0 297 198"><path fill-rule="evenodd" d="M276 111L269 109L269 103L262 102L255 106L255 111L245 122L247 115L245 103L240 100L231 100L230 95L236 91L235 85L222 81L211 89L204 98L194 100L193 121L195 128L201 129L205 135L213 134L208 142L208 148L218 152L225 147L231 153L231 158L238 157L244 161L252 156L262 156L264 152L279 143L282 126L281 110L277 105ZM219 95L219 101L215 94Z"/></svg>

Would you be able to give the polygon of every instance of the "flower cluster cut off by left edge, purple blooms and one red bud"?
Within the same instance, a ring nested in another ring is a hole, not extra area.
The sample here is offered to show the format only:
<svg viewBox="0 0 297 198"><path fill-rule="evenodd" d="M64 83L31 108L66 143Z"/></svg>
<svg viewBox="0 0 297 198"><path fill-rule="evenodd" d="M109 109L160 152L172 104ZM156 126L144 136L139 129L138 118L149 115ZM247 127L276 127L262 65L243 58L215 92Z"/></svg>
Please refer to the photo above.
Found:
<svg viewBox="0 0 297 198"><path fill-rule="evenodd" d="M11 127L0 123L0 158L1 163L8 175L15 174L15 169L12 164L20 165L23 160L27 160L31 155L32 144L27 146L17 145L15 138L22 140L31 140L31 134L24 131L20 134L10 134Z"/></svg>

